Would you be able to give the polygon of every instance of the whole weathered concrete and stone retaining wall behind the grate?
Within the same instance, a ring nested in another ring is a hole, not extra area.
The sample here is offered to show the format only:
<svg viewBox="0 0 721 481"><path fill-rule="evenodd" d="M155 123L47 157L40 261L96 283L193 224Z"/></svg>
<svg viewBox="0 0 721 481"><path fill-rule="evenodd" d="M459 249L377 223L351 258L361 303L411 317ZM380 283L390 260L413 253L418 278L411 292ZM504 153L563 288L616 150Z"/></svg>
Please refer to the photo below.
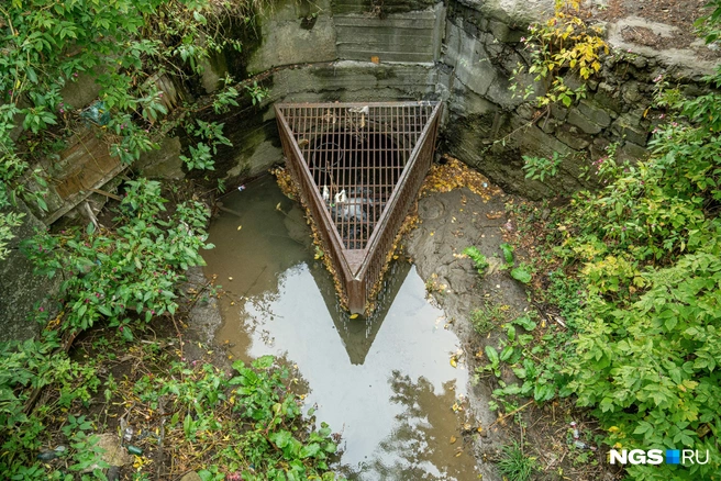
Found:
<svg viewBox="0 0 721 481"><path fill-rule="evenodd" d="M594 176L585 178L584 171L611 142L620 143L621 156L645 154L653 119L643 113L652 103L652 79L663 72L694 83L713 65L691 52L628 45L619 31L639 21L624 19L606 25L608 41L618 52L634 53L608 57L578 105L539 116L512 97L509 79L519 63L529 61L520 43L528 24L550 15L553 3L280 4L262 20L263 38L249 56L251 71L270 72L270 97L259 108L244 105L225 118L235 144L223 153L228 179L260 172L281 158L270 109L275 102L443 99L447 110L442 148L507 190L539 199L592 187ZM531 78L522 81L532 83ZM501 138L502 144L493 144ZM524 178L523 155L553 153L564 156L556 177L545 182Z"/></svg>

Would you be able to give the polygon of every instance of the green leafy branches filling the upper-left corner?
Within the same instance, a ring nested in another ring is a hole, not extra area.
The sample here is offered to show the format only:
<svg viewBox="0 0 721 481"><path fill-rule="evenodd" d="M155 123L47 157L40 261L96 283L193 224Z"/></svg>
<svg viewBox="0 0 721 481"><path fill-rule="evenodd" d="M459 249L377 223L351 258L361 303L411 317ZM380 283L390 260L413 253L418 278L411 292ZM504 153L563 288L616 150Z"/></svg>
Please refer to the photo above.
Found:
<svg viewBox="0 0 721 481"><path fill-rule="evenodd" d="M252 23L253 10L260 4L251 0L14 0L0 7L0 209L19 194L47 209L43 180L47 175L33 172L37 187L29 188L23 172L38 157L56 156L51 144L70 135L79 118L99 125L111 155L123 164L158 148L157 139L174 125L166 122L168 111L156 79L167 75L182 82L201 74L211 54L223 48L240 51L240 42L230 38L226 29L237 21ZM100 87L99 101L84 112L67 104L62 94L81 76ZM213 100L218 112L237 105L239 92L229 83ZM255 104L267 90L254 83L247 93ZM25 132L15 145L11 133L20 126ZM47 130L53 135L45 135ZM224 142L217 139L193 147L192 168L212 168L209 148L214 153L215 142ZM5 213L0 213L0 220L5 225L11 222ZM0 231L2 240L7 233Z"/></svg>

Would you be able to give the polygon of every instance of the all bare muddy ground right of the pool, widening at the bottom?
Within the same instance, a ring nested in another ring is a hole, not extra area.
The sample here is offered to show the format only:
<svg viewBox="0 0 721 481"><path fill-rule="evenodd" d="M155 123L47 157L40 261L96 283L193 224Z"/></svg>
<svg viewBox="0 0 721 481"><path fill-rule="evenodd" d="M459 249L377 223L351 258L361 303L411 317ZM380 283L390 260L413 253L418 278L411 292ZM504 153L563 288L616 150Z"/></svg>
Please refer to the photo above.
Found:
<svg viewBox="0 0 721 481"><path fill-rule="evenodd" d="M457 164L445 168L450 170L446 178L464 177L470 188L453 186L450 191L439 191L447 190L443 187L443 175L441 180L434 180L432 172L426 187L429 182L435 182L441 189L426 189L419 199L419 224L407 236L403 247L426 280L429 297L445 311L447 328L453 329L463 343L459 368L468 369L473 374L477 367L488 362L485 346L498 347L500 337L504 336L500 324L537 307L532 302L531 286L514 280L510 269L503 268L500 248L502 243L520 244L514 242L519 239L519 233L512 212L513 206L528 205L528 202L506 194L482 175ZM490 266L484 276L476 271L472 259L462 254L468 246L476 246L487 257ZM526 258L526 253L517 249L514 256L518 266ZM472 322L473 313L478 310L495 313L495 325L486 326L480 333ZM544 325L543 333L559 328L555 324ZM506 382L515 381L508 370L502 377ZM470 423L482 427L480 435L474 434L479 463L498 460L500 446L520 439L526 441L528 456L537 460L539 471L532 478L534 480L615 478L603 468L602 449L578 451L569 445L569 420L577 421L585 428L594 428L594 421L586 413L574 409L568 401L554 400L540 406L530 399L518 400L518 405L523 406L518 414L509 415L502 410L493 412L488 402L492 390L498 387L496 378L484 376L468 390ZM487 465L486 468L482 479L501 479Z"/></svg>

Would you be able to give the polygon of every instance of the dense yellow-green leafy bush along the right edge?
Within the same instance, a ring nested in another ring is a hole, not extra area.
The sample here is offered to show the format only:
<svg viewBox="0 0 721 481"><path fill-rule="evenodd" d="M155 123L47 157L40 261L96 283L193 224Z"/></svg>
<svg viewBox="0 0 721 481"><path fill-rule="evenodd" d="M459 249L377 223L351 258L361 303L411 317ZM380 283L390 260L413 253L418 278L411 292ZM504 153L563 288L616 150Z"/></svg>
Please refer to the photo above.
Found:
<svg viewBox="0 0 721 481"><path fill-rule="evenodd" d="M712 454L678 469L629 466L631 478L710 479L721 435L721 96L688 99L656 81L667 122L651 157L621 164L612 148L595 163L607 187L561 213L555 254L577 278L553 276L551 298L576 329L559 380L609 445ZM709 81L721 85L721 71Z"/></svg>

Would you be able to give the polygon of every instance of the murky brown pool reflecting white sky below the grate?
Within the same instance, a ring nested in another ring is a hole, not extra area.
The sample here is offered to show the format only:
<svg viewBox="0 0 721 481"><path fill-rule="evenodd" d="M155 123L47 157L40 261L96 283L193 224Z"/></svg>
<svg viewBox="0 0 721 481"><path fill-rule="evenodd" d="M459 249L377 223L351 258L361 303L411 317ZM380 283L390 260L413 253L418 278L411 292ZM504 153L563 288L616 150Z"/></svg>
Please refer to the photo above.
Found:
<svg viewBox="0 0 721 481"><path fill-rule="evenodd" d="M448 362L458 340L415 268L395 265L381 309L350 320L313 258L300 209L273 179L223 202L232 212L211 225L217 247L204 254L206 275L230 293L217 339L239 358L273 354L298 367L307 406L343 435L350 479L477 479L452 410L467 383L467 371Z"/></svg>

